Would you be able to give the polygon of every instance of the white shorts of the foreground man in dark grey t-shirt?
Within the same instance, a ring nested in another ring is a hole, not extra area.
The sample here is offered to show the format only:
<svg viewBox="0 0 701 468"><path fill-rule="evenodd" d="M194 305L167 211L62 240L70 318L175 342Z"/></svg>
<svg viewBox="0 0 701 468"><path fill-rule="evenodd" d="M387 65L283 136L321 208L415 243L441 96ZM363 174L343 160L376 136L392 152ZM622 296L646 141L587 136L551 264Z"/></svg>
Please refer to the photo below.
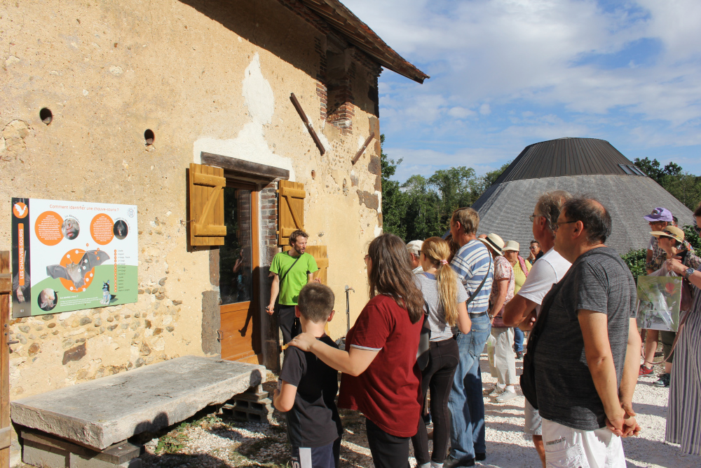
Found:
<svg viewBox="0 0 701 468"><path fill-rule="evenodd" d="M546 468L625 468L623 444L607 427L580 431L543 419Z"/></svg>

